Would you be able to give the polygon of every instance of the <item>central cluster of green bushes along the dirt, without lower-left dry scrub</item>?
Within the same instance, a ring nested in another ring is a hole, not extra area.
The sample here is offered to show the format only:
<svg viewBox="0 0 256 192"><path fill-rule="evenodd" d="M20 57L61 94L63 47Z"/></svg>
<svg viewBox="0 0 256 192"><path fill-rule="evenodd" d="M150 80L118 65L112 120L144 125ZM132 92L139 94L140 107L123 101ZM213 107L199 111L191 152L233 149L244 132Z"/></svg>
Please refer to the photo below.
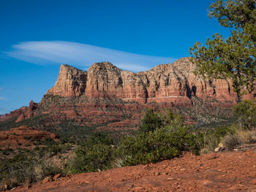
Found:
<svg viewBox="0 0 256 192"><path fill-rule="evenodd" d="M97 172L113 166L130 166L155 163L174 158L184 151L200 154L202 149L211 152L233 127L203 130L187 126L181 115L170 110L148 110L138 131L121 139L115 146L107 134L95 132L75 150L67 173Z"/></svg>

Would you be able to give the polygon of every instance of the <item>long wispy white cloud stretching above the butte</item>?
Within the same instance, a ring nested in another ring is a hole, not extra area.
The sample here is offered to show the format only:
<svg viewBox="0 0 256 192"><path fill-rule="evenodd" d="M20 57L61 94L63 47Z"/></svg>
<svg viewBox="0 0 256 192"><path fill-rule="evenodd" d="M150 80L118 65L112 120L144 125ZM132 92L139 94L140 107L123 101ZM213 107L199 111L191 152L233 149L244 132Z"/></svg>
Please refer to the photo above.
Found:
<svg viewBox="0 0 256 192"><path fill-rule="evenodd" d="M88 66L95 62L110 61L121 69L134 72L151 69L157 64L169 64L174 58L139 55L104 47L64 41L20 42L6 55L32 64L69 64Z"/></svg>

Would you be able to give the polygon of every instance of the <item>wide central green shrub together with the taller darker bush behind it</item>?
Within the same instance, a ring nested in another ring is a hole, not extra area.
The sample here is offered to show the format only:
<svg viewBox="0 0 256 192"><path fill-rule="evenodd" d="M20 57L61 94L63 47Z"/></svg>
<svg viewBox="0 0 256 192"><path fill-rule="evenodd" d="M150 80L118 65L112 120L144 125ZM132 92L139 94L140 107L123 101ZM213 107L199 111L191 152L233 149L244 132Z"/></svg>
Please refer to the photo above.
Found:
<svg viewBox="0 0 256 192"><path fill-rule="evenodd" d="M140 126L138 134L125 137L118 146L122 164L155 163L176 157L184 150L199 153L198 143L203 137L192 126L186 126L180 115L172 112L155 114L148 110L144 118L146 120L143 119L143 128Z"/></svg>

